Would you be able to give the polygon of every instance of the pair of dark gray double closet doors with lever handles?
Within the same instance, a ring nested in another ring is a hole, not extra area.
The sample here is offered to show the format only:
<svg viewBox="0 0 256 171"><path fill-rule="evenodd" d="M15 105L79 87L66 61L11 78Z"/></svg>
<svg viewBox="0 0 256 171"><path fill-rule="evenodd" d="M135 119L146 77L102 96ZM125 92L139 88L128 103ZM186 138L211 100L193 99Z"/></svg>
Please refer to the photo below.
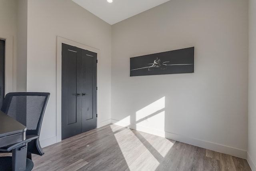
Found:
<svg viewBox="0 0 256 171"><path fill-rule="evenodd" d="M62 44L62 139L94 129L97 54Z"/></svg>

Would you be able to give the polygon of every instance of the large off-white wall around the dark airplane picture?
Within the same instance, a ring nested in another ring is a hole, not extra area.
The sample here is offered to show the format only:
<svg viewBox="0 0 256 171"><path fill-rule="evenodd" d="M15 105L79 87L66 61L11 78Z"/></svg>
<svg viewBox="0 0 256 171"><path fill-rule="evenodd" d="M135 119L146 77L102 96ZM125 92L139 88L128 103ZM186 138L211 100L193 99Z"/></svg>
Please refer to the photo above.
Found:
<svg viewBox="0 0 256 171"><path fill-rule="evenodd" d="M131 57L192 46L194 73L129 76ZM112 26L112 123L246 158L247 68L248 1L166 2Z"/></svg>

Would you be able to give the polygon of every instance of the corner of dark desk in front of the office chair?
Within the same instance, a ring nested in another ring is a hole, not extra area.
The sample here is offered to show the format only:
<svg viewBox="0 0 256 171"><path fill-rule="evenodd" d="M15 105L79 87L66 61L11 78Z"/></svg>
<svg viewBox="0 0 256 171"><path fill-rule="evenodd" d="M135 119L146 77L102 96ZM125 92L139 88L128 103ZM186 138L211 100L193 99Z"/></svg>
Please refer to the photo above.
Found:
<svg viewBox="0 0 256 171"><path fill-rule="evenodd" d="M26 130L24 125L0 111L0 147L25 140Z"/></svg>

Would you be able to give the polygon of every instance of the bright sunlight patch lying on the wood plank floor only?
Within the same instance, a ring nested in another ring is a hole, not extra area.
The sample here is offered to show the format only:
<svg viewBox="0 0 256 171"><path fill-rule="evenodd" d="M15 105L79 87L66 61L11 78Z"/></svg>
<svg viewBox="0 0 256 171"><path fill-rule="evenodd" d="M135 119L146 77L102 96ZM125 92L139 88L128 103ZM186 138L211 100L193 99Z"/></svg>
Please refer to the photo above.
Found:
<svg viewBox="0 0 256 171"><path fill-rule="evenodd" d="M120 128L117 125L110 127L116 132L114 136L131 171L157 169L175 143L163 137Z"/></svg>

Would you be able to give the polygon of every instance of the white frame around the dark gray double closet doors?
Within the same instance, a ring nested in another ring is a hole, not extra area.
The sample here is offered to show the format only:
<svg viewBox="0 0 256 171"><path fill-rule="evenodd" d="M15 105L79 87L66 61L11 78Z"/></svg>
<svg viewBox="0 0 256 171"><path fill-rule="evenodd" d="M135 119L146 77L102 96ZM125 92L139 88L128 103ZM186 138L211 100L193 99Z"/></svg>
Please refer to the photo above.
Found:
<svg viewBox="0 0 256 171"><path fill-rule="evenodd" d="M62 141L61 139L61 76L62 76L62 43L68 44L70 46L76 46L78 48L89 50L91 52L97 53L97 59L100 57L100 50L96 48L92 48L90 46L74 42L72 40L62 38L60 36L57 36L57 84L56 84L56 134L57 134L57 142ZM98 84L98 64L97 64L97 84ZM97 103L98 103L98 93L96 95ZM96 103L96 111L98 111L98 105ZM98 127L98 117L97 117L97 123Z"/></svg>

